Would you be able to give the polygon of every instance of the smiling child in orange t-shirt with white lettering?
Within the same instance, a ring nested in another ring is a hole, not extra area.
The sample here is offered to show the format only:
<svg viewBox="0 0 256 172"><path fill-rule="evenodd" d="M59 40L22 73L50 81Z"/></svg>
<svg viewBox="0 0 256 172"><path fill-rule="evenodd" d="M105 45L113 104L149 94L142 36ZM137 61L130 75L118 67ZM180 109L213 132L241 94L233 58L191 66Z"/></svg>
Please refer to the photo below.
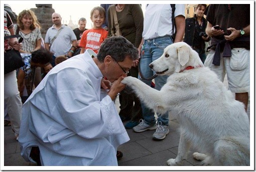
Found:
<svg viewBox="0 0 256 172"><path fill-rule="evenodd" d="M108 31L102 28L105 22L105 9L101 6L96 6L91 11L91 20L93 28L84 31L79 43L81 47L80 54L83 54L86 49L92 49L96 54L98 53L102 42L107 38Z"/></svg>

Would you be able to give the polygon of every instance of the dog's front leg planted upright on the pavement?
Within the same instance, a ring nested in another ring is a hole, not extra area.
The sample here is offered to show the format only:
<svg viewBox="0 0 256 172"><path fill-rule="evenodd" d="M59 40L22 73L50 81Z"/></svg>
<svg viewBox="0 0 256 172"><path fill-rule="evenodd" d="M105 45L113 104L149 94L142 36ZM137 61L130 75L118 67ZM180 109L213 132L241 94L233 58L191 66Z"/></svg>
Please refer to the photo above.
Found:
<svg viewBox="0 0 256 172"><path fill-rule="evenodd" d="M180 142L178 147L178 155L175 159L169 159L167 161L168 166L181 166L183 160L186 160L189 144L184 138L183 134L180 135Z"/></svg>

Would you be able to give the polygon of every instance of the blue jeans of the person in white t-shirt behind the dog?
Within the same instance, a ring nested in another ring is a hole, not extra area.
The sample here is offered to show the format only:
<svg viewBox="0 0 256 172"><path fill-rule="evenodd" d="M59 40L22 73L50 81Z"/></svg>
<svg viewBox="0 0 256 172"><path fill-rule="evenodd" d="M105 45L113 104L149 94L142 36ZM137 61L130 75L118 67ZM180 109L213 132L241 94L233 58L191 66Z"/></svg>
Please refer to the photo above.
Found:
<svg viewBox="0 0 256 172"><path fill-rule="evenodd" d="M140 69L145 78L149 78L155 74L154 71L151 70L151 68L148 66L152 61L156 60L157 58L161 57L163 54L163 50L172 44L173 41L170 36L164 36L164 37L158 37L150 40L144 40L144 44L141 49L141 55L140 55ZM162 86L166 83L168 76L157 76L155 80L155 89L160 90ZM138 76L138 79L140 79L145 84L149 85L151 84L151 80L145 80L140 78ZM141 108L142 108L142 116L144 118L144 122L148 125L152 125L156 122L154 112L153 110L150 110L145 106L144 103L141 102ZM162 125L168 125L169 123L169 115L168 112L165 114L157 114L158 121L162 122Z"/></svg>

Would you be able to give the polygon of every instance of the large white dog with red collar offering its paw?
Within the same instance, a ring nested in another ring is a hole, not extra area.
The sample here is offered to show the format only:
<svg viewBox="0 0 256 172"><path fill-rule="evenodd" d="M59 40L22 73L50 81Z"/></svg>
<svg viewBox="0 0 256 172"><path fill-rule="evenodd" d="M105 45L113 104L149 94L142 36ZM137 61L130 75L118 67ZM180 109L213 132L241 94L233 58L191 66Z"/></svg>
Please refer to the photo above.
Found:
<svg viewBox="0 0 256 172"><path fill-rule="evenodd" d="M176 159L180 166L189 146L198 150L196 160L206 166L250 166L250 122L244 104L236 101L217 75L204 67L198 54L186 43L169 45L149 66L158 75L170 75L160 91L134 77L122 83L158 113L167 111L180 123Z"/></svg>

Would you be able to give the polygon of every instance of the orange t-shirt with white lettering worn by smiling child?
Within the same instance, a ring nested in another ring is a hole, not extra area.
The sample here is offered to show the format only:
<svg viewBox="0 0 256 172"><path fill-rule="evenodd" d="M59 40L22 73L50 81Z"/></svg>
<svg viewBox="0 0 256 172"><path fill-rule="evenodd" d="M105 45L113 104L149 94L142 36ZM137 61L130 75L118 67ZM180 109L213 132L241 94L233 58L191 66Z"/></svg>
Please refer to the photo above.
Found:
<svg viewBox="0 0 256 172"><path fill-rule="evenodd" d="M107 38L108 31L105 29L88 29L84 31L79 43L79 47L86 49L92 49L96 54L101 47L103 41Z"/></svg>

